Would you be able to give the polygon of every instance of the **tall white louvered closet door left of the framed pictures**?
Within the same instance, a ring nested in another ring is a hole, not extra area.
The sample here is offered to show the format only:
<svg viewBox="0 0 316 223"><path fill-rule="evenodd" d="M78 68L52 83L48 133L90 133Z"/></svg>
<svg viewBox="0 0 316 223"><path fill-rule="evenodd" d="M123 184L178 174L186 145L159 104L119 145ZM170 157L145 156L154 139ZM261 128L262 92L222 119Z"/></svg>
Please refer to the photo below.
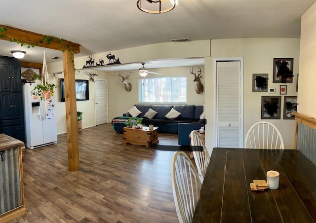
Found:
<svg viewBox="0 0 316 223"><path fill-rule="evenodd" d="M241 74L240 61L216 62L217 147L240 148Z"/></svg>

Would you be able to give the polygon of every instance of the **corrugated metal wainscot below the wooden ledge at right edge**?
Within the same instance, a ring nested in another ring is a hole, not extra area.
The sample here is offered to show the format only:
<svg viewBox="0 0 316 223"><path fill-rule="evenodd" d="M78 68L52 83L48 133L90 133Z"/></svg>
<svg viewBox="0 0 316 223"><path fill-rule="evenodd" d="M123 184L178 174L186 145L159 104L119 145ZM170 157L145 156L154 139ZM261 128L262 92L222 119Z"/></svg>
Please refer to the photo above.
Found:
<svg viewBox="0 0 316 223"><path fill-rule="evenodd" d="M299 122L296 149L316 165L316 130Z"/></svg>

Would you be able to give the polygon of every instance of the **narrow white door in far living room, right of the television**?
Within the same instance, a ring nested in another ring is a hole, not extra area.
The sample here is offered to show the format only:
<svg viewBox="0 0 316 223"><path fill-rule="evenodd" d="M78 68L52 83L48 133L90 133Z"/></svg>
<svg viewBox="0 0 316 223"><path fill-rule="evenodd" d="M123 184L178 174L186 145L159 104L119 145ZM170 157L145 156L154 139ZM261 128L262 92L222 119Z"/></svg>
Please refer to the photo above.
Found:
<svg viewBox="0 0 316 223"><path fill-rule="evenodd" d="M108 123L108 80L94 79L94 95L95 123Z"/></svg>

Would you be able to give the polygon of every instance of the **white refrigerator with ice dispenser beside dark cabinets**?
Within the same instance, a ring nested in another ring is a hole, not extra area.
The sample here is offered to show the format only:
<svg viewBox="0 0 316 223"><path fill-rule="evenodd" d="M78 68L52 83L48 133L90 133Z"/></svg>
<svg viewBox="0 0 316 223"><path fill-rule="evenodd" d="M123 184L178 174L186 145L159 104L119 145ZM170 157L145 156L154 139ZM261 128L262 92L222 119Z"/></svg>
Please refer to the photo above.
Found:
<svg viewBox="0 0 316 223"><path fill-rule="evenodd" d="M40 100L31 91L37 83L25 83L23 86L24 117L26 147L38 147L57 143L57 119L55 114L54 96Z"/></svg>

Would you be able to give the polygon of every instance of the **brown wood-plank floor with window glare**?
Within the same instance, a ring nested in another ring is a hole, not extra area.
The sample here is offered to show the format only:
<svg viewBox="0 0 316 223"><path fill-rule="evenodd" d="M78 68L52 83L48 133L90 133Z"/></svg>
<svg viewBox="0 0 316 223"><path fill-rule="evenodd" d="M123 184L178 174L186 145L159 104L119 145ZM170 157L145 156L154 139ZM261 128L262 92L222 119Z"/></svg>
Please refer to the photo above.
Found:
<svg viewBox="0 0 316 223"><path fill-rule="evenodd" d="M111 124L79 133L80 169L68 170L67 135L23 149L27 214L11 223L178 222L170 180L174 151L122 145ZM159 134L159 145L177 145Z"/></svg>

